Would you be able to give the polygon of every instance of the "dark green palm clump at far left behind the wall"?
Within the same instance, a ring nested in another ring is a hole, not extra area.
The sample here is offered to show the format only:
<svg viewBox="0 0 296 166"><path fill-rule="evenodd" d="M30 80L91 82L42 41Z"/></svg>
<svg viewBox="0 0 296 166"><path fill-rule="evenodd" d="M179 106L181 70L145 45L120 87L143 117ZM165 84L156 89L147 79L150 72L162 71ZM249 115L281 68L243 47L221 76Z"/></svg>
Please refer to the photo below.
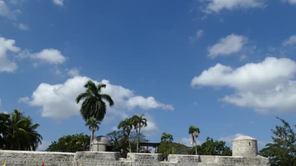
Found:
<svg viewBox="0 0 296 166"><path fill-rule="evenodd" d="M0 149L36 150L42 136L29 116L24 116L19 109L11 114L0 114Z"/></svg>

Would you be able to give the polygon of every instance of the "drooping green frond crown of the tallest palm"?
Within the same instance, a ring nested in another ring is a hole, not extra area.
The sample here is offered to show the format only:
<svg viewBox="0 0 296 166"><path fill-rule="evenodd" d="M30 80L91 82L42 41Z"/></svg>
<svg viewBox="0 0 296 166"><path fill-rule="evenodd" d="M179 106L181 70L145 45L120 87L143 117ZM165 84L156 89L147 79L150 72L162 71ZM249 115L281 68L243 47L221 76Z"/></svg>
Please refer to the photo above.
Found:
<svg viewBox="0 0 296 166"><path fill-rule="evenodd" d="M90 117L96 118L102 121L106 115L107 106L105 101L109 102L109 106L113 106L114 102L108 94L101 94L102 88L105 88L106 84L100 83L96 85L89 80L85 83L86 88L84 93L81 93L76 98L76 103L83 100L80 108L80 114L85 121Z"/></svg>

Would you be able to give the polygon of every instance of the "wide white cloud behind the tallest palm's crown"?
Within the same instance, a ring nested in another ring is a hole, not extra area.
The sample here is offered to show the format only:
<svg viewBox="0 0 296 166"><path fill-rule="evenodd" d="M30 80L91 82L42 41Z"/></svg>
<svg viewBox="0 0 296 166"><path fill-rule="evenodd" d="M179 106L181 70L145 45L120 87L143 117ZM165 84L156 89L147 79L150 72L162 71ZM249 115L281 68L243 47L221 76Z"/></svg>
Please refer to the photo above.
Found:
<svg viewBox="0 0 296 166"><path fill-rule="evenodd" d="M33 92L28 104L31 106L41 106L41 116L67 118L79 115L80 104L76 104L75 99L78 94L84 92L83 85L88 80L90 80L88 77L75 76L62 84L51 85L41 83ZM173 109L171 105L156 101L153 97L144 98L142 96L135 96L133 91L119 85L113 85L108 80L102 80L101 83L107 85L102 90L102 93L109 94L114 100L114 107L108 109L108 113L111 113L113 116L126 117L127 113L125 110L136 107L147 110L156 108ZM135 100L137 98L143 100ZM109 114L107 114L108 116L110 118Z"/></svg>

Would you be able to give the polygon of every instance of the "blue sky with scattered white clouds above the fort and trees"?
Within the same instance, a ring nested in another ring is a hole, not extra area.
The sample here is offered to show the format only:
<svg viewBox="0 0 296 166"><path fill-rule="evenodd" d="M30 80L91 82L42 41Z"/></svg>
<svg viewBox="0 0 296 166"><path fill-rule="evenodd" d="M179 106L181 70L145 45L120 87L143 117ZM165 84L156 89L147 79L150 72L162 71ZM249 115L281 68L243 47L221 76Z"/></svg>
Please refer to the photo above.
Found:
<svg viewBox="0 0 296 166"><path fill-rule="evenodd" d="M271 141L296 118L295 0L0 0L0 111L20 108L46 148L90 133L74 99L92 79L115 106L97 135L144 113L151 142L187 129Z"/></svg>

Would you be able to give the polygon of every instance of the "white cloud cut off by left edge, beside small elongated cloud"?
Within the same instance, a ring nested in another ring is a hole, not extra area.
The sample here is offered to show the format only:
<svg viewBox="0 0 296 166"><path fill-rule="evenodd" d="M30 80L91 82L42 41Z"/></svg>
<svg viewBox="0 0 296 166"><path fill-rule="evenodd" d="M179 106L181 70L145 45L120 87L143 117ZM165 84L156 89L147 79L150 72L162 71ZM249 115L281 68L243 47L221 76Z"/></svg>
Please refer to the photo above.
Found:
<svg viewBox="0 0 296 166"><path fill-rule="evenodd" d="M16 41L0 37L0 72L14 72L18 66L15 62L7 58L7 52L19 52L19 48L15 46Z"/></svg>

